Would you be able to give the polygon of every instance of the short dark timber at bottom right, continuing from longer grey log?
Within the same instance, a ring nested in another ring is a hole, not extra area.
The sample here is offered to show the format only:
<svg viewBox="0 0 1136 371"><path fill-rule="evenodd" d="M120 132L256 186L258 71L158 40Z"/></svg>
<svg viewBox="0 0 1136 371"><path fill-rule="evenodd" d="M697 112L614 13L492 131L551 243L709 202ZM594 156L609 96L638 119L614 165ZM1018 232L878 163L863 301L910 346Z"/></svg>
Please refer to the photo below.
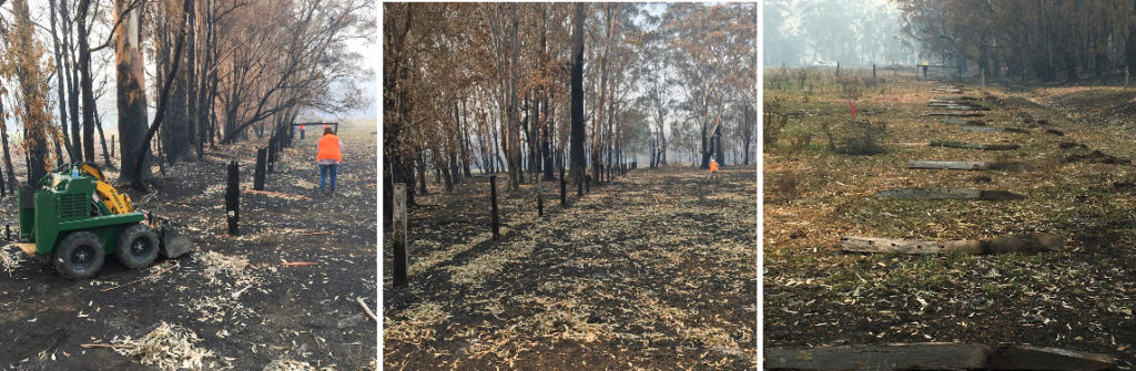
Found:
<svg viewBox="0 0 1136 371"><path fill-rule="evenodd" d="M1096 353L1030 345L1002 346L991 354L993 370L1114 370L1117 360Z"/></svg>

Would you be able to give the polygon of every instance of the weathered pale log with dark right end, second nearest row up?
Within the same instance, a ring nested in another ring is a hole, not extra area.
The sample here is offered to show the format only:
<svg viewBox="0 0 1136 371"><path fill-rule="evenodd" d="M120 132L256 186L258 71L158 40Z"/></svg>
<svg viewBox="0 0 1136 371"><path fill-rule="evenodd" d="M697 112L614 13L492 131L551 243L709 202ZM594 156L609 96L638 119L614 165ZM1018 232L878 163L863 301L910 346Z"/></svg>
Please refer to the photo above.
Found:
<svg viewBox="0 0 1136 371"><path fill-rule="evenodd" d="M999 237L991 241L919 241L882 237L841 237L841 250L857 253L899 253L911 255L1043 253L1059 251L1064 239L1051 234L1035 233L1025 237Z"/></svg>

